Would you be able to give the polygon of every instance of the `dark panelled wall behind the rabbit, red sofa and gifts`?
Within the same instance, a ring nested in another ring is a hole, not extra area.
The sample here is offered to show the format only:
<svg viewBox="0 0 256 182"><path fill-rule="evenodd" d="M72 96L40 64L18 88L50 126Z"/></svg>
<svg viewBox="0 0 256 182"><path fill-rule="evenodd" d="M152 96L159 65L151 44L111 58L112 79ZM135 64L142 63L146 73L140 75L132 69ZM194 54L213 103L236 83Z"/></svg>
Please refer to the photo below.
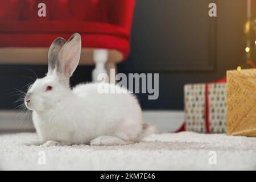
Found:
<svg viewBox="0 0 256 182"><path fill-rule="evenodd" d="M217 1L217 18L208 16L206 0L137 1L129 59L118 65L122 73L159 73L159 98L138 94L143 109L183 109L183 86L213 81L242 63L246 1ZM0 40L1 41L1 40ZM0 65L0 109L14 109L23 88L47 72L47 66ZM80 66L71 83L91 80L93 67Z"/></svg>

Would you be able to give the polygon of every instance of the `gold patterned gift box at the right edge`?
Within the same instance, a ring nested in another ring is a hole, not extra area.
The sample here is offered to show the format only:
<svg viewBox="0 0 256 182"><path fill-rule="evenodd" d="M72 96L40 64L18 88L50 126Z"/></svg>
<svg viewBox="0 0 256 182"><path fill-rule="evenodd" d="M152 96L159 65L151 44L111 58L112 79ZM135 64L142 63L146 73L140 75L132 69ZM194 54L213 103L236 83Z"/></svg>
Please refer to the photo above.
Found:
<svg viewBox="0 0 256 182"><path fill-rule="evenodd" d="M226 131L256 137L256 69L227 72Z"/></svg>

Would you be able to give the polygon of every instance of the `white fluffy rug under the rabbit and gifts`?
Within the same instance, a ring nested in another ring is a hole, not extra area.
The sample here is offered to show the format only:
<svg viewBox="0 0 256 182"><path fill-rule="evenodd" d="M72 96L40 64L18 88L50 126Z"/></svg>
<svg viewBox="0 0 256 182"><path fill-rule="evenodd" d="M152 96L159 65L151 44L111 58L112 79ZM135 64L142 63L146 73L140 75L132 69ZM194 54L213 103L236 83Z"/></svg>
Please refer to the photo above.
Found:
<svg viewBox="0 0 256 182"><path fill-rule="evenodd" d="M143 142L129 146L41 147L22 144L36 138L34 133L0 135L0 169L256 170L256 138L183 132L151 135ZM46 154L45 165L38 163L42 156L39 151ZM214 161L215 154L216 165L210 165L209 158Z"/></svg>

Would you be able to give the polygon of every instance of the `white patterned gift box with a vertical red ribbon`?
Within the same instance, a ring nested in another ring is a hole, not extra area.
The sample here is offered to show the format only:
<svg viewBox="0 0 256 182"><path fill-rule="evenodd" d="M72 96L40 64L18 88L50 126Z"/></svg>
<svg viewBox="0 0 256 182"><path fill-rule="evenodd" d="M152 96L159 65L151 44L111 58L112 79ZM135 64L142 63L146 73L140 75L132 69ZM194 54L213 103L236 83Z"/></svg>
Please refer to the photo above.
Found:
<svg viewBox="0 0 256 182"><path fill-rule="evenodd" d="M185 85L185 130L225 133L225 102L225 78L214 83Z"/></svg>

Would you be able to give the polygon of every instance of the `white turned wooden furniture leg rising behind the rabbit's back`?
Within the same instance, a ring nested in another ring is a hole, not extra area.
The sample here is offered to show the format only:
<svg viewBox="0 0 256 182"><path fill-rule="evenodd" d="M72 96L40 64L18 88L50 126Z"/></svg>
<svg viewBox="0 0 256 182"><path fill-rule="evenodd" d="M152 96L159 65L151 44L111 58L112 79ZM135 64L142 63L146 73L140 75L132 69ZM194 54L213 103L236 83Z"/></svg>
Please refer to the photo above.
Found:
<svg viewBox="0 0 256 182"><path fill-rule="evenodd" d="M105 63L108 60L108 50L107 49L95 49L93 51L93 60L95 63L95 68L92 71L92 81L99 82L102 79L108 82L108 75L105 69ZM104 74L102 74L104 73ZM100 80L98 76L100 75Z"/></svg>

